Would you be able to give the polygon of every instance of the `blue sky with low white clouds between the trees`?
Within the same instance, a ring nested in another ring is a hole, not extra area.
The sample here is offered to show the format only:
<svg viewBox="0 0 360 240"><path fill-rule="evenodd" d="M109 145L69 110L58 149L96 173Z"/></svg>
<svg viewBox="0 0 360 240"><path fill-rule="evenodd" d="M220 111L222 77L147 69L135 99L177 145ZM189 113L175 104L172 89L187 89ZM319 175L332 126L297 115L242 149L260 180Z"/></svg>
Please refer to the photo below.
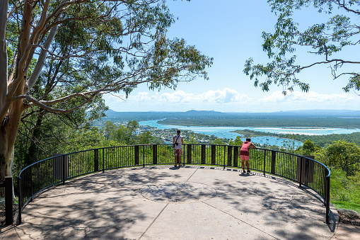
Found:
<svg viewBox="0 0 360 240"><path fill-rule="evenodd" d="M254 86L243 73L246 59L266 64L270 60L262 51L262 32L274 32L277 17L265 0L192 0L168 1L170 12L178 20L170 27L168 38L184 38L202 54L214 57L207 69L209 80L180 82L173 89L151 91L139 85L129 98L105 95L105 103L118 112L127 111L187 111L215 110L237 113L270 113L285 110L360 110L360 96L345 93L347 78L333 79L329 66L307 69L299 74L301 81L310 84L308 93L300 88L284 96L282 86L272 85L264 92ZM323 23L328 16L306 8L294 16L306 28ZM356 59L354 47L336 57ZM314 60L306 50L295 53L300 63ZM321 59L321 58L319 58ZM353 66L354 68L354 66ZM344 67L343 67L344 69ZM346 69L344 69L346 70ZM351 69L350 69L351 70Z"/></svg>

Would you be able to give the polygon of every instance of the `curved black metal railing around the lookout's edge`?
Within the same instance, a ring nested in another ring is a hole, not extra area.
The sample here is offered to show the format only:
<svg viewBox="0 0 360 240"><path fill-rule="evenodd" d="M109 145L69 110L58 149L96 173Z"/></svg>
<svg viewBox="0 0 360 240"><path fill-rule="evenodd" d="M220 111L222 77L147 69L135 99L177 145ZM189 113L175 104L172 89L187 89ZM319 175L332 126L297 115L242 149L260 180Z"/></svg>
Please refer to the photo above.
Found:
<svg viewBox="0 0 360 240"><path fill-rule="evenodd" d="M240 147L213 144L184 144L182 164L240 168ZM103 147L72 152L37 161L23 168L18 176L19 214L35 195L53 185L89 173L113 168L174 164L172 144L146 144ZM250 169L287 178L314 190L326 207L326 223L330 216L330 169L305 156L270 149L250 149Z"/></svg>

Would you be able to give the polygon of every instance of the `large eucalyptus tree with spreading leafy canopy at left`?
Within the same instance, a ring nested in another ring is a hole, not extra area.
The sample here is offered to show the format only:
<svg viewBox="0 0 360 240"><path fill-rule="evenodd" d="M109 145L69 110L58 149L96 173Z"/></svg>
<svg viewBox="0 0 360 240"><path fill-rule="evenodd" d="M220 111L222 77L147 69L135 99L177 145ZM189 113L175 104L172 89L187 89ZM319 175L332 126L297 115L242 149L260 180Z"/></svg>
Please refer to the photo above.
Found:
<svg viewBox="0 0 360 240"><path fill-rule="evenodd" d="M0 178L11 175L24 111L81 114L104 93L207 79L212 64L166 37L166 0L3 0L0 11Z"/></svg>

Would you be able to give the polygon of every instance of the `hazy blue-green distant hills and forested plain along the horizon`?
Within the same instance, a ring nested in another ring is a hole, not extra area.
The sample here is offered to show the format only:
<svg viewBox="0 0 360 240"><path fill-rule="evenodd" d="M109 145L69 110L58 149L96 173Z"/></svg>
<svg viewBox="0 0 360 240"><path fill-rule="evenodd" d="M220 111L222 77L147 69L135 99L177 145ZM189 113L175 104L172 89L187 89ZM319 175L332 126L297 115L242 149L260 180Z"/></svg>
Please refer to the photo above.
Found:
<svg viewBox="0 0 360 240"><path fill-rule="evenodd" d="M100 122L161 120L159 122L161 124L182 126L360 128L360 111L358 110L291 110L274 113L221 113L213 110L187 112L108 110L106 115L107 117Z"/></svg>

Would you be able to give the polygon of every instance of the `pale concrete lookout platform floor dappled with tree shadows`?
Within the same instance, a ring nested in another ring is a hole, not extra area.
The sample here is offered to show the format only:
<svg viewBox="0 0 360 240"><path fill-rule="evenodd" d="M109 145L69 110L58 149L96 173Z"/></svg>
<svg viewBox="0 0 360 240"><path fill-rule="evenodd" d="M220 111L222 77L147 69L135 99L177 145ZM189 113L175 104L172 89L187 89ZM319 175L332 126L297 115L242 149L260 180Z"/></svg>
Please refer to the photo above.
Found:
<svg viewBox="0 0 360 240"><path fill-rule="evenodd" d="M330 239L323 202L283 178L210 166L122 168L66 181L23 210L20 239Z"/></svg>

